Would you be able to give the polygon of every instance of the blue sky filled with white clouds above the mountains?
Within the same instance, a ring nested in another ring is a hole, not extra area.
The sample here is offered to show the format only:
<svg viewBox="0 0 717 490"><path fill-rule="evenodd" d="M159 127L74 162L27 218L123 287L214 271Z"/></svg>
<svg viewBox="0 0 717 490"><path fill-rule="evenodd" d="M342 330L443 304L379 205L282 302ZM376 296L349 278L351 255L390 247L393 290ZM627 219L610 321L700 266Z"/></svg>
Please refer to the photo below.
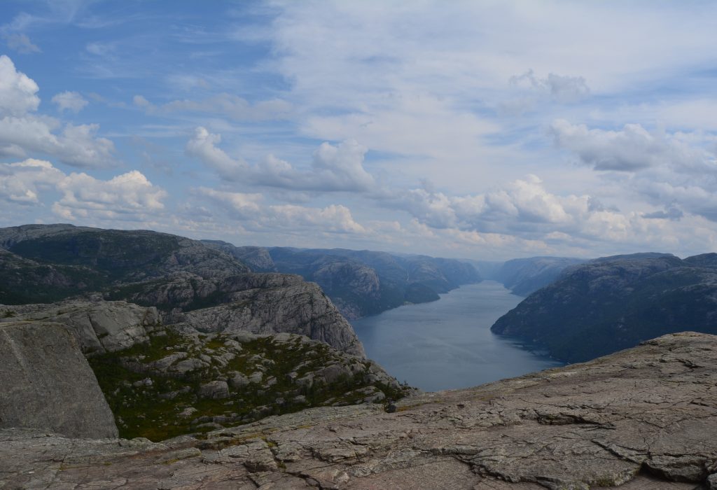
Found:
<svg viewBox="0 0 717 490"><path fill-rule="evenodd" d="M0 3L0 226L717 249L713 1Z"/></svg>

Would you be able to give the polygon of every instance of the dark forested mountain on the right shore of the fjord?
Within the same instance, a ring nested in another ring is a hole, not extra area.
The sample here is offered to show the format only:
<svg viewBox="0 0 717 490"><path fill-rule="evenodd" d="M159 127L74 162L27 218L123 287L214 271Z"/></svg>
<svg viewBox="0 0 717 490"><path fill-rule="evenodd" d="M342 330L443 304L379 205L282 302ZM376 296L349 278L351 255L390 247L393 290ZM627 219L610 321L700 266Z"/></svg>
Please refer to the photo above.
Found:
<svg viewBox="0 0 717 490"><path fill-rule="evenodd" d="M671 332L717 333L717 254L603 257L570 266L493 332L581 362Z"/></svg>

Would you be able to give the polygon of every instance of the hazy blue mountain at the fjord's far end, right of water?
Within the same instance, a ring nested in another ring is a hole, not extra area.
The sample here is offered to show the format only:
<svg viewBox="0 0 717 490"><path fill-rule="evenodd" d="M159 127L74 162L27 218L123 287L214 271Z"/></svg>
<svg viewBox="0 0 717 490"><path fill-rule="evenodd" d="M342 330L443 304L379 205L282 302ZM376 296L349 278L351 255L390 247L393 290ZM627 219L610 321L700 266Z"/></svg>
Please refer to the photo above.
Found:
<svg viewBox="0 0 717 490"><path fill-rule="evenodd" d="M513 294L528 296L554 282L564 269L584 262L569 257L529 257L503 263L475 261L475 266L485 279L503 283Z"/></svg>

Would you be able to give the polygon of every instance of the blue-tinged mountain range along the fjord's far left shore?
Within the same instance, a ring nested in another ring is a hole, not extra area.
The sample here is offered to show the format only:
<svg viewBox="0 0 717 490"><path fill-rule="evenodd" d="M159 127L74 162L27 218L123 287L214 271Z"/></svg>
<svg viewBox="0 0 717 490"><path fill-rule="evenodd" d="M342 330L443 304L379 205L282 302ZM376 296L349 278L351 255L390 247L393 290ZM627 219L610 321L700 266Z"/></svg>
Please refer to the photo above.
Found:
<svg viewBox="0 0 717 490"><path fill-rule="evenodd" d="M317 283L350 320L402 304L435 301L439 293L480 282L473 266L455 259L368 250L261 249L219 241L205 243L232 254L256 272L299 274Z"/></svg>

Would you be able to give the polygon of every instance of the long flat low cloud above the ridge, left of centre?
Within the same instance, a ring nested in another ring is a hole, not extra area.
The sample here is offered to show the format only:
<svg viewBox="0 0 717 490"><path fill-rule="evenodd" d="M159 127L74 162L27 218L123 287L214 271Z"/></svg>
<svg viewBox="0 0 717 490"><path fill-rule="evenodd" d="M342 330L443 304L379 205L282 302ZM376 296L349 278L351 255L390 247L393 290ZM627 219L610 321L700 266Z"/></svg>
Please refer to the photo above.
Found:
<svg viewBox="0 0 717 490"><path fill-rule="evenodd" d="M275 229L322 231L341 234L363 234L364 226L354 221L346 206L331 204L324 208L308 206L266 205L261 194L217 191L198 188L199 196L209 198L224 208L233 218L244 221L244 226L254 230Z"/></svg>

